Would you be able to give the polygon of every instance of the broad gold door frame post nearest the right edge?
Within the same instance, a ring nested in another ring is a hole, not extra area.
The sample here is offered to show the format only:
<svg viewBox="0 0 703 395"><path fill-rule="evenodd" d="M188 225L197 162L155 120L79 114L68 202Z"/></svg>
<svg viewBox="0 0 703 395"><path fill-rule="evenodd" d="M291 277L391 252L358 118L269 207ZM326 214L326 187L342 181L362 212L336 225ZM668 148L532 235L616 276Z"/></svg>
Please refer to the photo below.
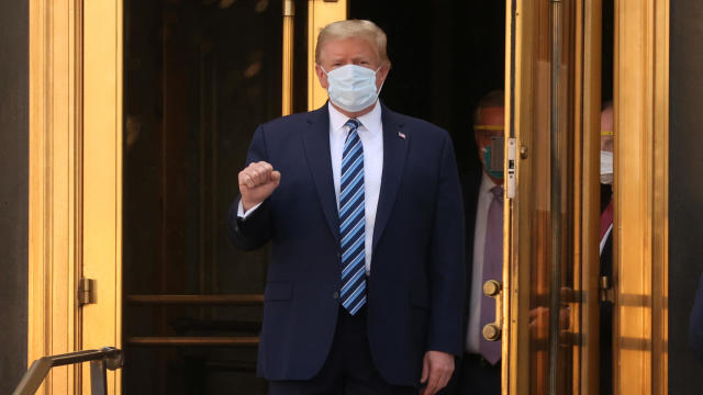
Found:
<svg viewBox="0 0 703 395"><path fill-rule="evenodd" d="M615 0L615 394L668 393L669 4Z"/></svg>

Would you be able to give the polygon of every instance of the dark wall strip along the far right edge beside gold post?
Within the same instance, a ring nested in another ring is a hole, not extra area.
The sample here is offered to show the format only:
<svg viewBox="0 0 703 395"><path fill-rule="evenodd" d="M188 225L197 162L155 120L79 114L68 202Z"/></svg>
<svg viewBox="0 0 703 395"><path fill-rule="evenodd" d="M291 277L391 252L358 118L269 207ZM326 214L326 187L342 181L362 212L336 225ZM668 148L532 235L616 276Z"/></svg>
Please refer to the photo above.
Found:
<svg viewBox="0 0 703 395"><path fill-rule="evenodd" d="M703 2L671 2L669 112L669 393L703 393L703 365L688 346L689 316L703 273Z"/></svg>

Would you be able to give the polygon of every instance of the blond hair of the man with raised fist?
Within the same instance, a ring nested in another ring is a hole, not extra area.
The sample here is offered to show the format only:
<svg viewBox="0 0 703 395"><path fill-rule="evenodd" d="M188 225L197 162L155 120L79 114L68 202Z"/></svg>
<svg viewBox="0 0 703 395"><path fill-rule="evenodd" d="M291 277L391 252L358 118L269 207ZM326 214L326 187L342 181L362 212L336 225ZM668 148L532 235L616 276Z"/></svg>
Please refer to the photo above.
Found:
<svg viewBox="0 0 703 395"><path fill-rule="evenodd" d="M320 31L317 35L317 46L315 47L315 63L321 64L322 48L331 41L358 37L366 40L382 64L389 64L390 59L386 53L386 33L376 23L366 20L348 20L333 22Z"/></svg>

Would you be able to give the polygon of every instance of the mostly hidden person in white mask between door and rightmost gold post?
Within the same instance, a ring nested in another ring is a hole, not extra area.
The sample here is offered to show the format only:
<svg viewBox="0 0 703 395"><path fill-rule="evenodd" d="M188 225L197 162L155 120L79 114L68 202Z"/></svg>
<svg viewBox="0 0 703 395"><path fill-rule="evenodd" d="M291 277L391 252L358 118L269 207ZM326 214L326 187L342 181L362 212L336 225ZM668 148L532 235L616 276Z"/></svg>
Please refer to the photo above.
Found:
<svg viewBox="0 0 703 395"><path fill-rule="evenodd" d="M613 281L613 103L601 111L600 276ZM607 291L605 291L607 292ZM600 394L613 393L613 302L601 298Z"/></svg>

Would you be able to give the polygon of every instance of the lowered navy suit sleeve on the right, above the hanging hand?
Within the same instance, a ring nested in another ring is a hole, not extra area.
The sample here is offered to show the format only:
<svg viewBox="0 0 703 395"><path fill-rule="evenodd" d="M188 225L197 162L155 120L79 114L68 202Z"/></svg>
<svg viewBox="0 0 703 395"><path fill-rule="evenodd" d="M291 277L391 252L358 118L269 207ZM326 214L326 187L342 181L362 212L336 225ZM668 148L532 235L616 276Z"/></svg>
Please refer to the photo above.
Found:
<svg viewBox="0 0 703 395"><path fill-rule="evenodd" d="M445 134L432 241L429 282L432 311L428 350L462 352L465 311L465 224L461 187L454 146Z"/></svg>

